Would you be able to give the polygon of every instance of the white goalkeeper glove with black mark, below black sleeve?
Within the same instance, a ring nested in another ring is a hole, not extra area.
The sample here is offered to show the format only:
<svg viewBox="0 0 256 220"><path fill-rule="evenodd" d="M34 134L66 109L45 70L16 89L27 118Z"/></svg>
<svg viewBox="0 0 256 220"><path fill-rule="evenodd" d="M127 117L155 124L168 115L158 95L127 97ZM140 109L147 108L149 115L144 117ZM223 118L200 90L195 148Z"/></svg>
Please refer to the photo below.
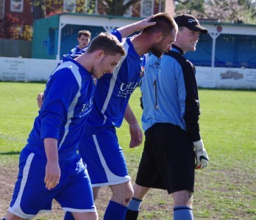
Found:
<svg viewBox="0 0 256 220"><path fill-rule="evenodd" d="M204 147L202 139L197 142L193 142L196 154L196 169L204 169L208 165L208 155Z"/></svg>

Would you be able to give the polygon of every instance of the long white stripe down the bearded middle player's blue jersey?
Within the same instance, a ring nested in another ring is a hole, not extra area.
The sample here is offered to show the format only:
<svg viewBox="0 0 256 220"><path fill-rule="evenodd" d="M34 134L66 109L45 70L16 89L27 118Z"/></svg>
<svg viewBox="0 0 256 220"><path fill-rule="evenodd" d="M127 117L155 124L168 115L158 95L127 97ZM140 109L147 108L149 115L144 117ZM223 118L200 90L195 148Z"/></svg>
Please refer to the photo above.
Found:
<svg viewBox="0 0 256 220"><path fill-rule="evenodd" d="M117 79L117 75L119 73L119 70L120 70L120 67L121 65L123 64L124 62L124 59L127 58L127 54L128 54L128 50L129 50L129 44L127 43L127 40L124 41L124 50L125 50L125 56L122 57L122 59L120 60L120 62L118 63L118 65L115 67L115 70L113 72L113 76L111 77L111 81L110 81L110 88L108 89L108 92L107 92L107 98L106 100L104 101L104 105L102 106L102 114L104 115L104 112L106 111L107 109L107 105L108 103L110 102L110 98L111 98L111 95L113 93L113 89L115 87L115 81ZM103 122L103 125L104 123L106 123L107 121L107 117L104 115L104 122Z"/></svg>

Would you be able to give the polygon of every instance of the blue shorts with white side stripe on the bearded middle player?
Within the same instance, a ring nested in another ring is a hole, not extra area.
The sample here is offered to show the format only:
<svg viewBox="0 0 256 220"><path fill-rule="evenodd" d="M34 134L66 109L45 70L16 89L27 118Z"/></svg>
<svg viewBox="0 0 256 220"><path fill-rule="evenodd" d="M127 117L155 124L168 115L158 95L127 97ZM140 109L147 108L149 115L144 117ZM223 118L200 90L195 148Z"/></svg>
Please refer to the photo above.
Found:
<svg viewBox="0 0 256 220"><path fill-rule="evenodd" d="M82 135L79 153L87 165L93 187L110 186L130 180L124 153L114 127L92 135Z"/></svg>

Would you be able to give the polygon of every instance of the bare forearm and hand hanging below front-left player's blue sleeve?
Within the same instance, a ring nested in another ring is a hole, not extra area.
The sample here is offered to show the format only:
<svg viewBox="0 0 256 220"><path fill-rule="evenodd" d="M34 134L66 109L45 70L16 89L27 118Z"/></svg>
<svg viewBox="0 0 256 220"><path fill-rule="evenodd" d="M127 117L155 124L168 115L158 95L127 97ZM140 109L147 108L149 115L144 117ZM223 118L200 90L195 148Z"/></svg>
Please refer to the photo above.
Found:
<svg viewBox="0 0 256 220"><path fill-rule="evenodd" d="M57 186L60 181L60 166L57 150L57 139L44 139L44 147L46 150L47 158L46 176L44 178L44 183L46 183L46 188L50 190L51 188Z"/></svg>

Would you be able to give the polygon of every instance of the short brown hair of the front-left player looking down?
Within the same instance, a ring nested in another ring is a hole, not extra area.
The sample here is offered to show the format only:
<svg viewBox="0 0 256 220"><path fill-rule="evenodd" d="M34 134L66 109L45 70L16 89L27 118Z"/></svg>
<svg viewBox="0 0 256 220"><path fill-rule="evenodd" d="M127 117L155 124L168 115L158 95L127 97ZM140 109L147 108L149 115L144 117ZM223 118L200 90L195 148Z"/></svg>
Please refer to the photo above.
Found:
<svg viewBox="0 0 256 220"><path fill-rule="evenodd" d="M124 46L119 42L117 37L108 32L102 32L97 37L93 38L86 52L92 53L97 50L103 50L107 55L125 55Z"/></svg>

